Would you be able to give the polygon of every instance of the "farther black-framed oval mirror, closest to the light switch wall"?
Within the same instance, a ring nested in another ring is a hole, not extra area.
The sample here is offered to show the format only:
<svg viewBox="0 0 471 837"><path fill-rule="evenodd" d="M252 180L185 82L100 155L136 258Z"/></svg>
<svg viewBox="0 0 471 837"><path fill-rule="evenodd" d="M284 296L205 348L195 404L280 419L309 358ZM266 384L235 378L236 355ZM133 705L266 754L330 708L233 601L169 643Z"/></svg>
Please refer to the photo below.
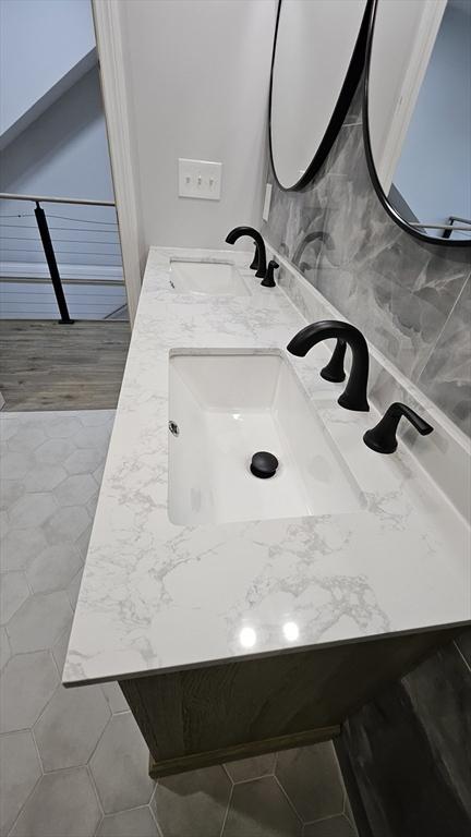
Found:
<svg viewBox="0 0 471 837"><path fill-rule="evenodd" d="M269 141L274 173L283 190L309 183L343 122L364 66L366 4L279 0Z"/></svg>

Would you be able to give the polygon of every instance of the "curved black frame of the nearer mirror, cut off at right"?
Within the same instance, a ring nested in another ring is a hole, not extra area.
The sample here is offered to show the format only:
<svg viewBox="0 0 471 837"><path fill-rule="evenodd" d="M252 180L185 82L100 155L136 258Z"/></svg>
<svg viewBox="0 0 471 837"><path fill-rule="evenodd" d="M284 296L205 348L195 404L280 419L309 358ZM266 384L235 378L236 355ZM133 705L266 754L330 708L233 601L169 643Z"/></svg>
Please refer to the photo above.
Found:
<svg viewBox="0 0 471 837"><path fill-rule="evenodd" d="M438 246L471 247L471 241L466 241L463 239L450 239L450 238L438 238L438 236L434 238L433 235L427 235L426 233L421 232L416 227L412 227L395 209L395 207L388 199L387 195L385 194L382 184L379 183L379 178L377 175L376 167L373 159L373 150L371 145L371 134L370 134L370 112L369 112L370 69L371 69L373 36L374 36L374 26L376 21L377 8L378 8L378 0L372 0L370 21L369 21L369 27L367 27L365 72L364 72L364 86L363 86L363 144L364 144L365 154L366 154L366 163L370 172L370 178L372 180L374 190L384 209L386 209L387 214L389 215L389 217L392 218L392 220L398 225L398 227L404 230L404 232L409 232L415 239L419 239L419 241L423 241L423 242L426 242L427 244L433 244Z"/></svg>

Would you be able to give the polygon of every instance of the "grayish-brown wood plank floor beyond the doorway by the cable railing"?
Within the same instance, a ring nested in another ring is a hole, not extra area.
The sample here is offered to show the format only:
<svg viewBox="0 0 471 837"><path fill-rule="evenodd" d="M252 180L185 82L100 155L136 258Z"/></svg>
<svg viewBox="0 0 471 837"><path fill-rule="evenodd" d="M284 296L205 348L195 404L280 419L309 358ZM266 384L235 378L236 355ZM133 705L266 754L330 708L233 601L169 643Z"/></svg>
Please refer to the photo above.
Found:
<svg viewBox="0 0 471 837"><path fill-rule="evenodd" d="M130 339L114 320L0 320L3 410L114 408Z"/></svg>

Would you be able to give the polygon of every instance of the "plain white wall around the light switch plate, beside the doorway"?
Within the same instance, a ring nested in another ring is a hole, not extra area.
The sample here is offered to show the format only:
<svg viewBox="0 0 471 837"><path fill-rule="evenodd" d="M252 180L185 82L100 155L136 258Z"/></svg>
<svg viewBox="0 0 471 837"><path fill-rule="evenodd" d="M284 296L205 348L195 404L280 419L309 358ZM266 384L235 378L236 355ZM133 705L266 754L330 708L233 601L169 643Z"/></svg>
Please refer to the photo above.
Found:
<svg viewBox="0 0 471 837"><path fill-rule="evenodd" d="M219 247L231 227L261 222L276 2L120 10L143 246ZM219 202L178 197L179 157L224 163Z"/></svg>

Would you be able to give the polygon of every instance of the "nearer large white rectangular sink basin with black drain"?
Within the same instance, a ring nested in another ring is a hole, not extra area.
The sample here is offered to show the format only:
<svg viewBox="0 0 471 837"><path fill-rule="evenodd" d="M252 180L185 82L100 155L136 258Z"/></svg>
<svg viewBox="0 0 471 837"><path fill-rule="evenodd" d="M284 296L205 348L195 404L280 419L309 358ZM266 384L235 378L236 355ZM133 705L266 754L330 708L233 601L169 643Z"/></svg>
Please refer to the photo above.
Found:
<svg viewBox="0 0 471 837"><path fill-rule="evenodd" d="M364 507L351 472L281 353L172 353L169 364L172 523L334 514ZM251 473L257 451L278 459L274 476Z"/></svg>

